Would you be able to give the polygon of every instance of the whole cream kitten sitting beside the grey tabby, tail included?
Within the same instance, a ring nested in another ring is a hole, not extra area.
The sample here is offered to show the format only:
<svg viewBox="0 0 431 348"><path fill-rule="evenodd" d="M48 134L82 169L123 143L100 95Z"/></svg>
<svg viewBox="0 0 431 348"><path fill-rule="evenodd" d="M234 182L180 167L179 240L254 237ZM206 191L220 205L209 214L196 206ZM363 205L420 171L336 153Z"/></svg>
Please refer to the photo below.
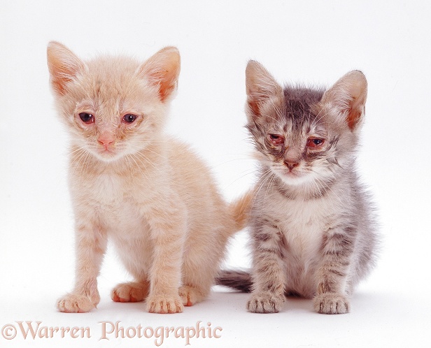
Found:
<svg viewBox="0 0 431 348"><path fill-rule="evenodd" d="M114 301L146 300L149 312L176 313L206 298L227 239L243 227L248 197L228 207L202 161L163 133L178 50L164 48L143 64L127 57L81 61L51 42L48 67L71 136L76 225L76 285L58 309L97 306L108 239L134 277L113 289Z"/></svg>

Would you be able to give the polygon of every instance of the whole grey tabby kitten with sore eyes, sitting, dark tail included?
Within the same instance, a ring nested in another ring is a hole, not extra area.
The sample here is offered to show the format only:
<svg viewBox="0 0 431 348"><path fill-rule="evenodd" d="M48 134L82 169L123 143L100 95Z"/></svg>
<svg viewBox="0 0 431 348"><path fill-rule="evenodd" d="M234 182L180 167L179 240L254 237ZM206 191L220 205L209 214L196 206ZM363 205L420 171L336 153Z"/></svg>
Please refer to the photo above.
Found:
<svg viewBox="0 0 431 348"><path fill-rule="evenodd" d="M249 221L253 272L225 271L218 284L252 290L250 312L278 312L288 294L313 298L319 313L349 312L378 239L355 173L367 80L351 71L326 91L283 89L249 61L246 90L261 167Z"/></svg>

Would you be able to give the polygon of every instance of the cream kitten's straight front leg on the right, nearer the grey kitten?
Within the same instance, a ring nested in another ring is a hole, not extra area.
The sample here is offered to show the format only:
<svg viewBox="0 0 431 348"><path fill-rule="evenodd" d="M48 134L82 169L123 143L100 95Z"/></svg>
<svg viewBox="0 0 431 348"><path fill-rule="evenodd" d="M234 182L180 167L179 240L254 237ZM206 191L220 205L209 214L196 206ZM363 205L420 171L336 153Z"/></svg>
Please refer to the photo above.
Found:
<svg viewBox="0 0 431 348"><path fill-rule="evenodd" d="M148 212L155 249L147 310L151 313L178 313L183 312L178 287L187 221L185 208L181 210L180 202L169 200L163 203L160 202L160 205L164 208Z"/></svg>

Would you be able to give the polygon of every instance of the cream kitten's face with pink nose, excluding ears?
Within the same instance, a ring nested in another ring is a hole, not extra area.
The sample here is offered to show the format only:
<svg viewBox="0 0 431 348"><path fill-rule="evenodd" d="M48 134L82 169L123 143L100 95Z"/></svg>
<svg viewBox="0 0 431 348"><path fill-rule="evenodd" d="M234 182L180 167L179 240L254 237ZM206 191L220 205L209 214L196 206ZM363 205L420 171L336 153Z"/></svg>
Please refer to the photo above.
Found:
<svg viewBox="0 0 431 348"><path fill-rule="evenodd" d="M105 71L110 63L108 59L97 61L97 66L90 64L89 73L78 76L68 93L75 104L67 113L73 140L102 161L113 161L146 147L161 121L157 94L148 91L134 75L138 66L133 64L128 74L113 76ZM122 66L132 62L117 63Z"/></svg>

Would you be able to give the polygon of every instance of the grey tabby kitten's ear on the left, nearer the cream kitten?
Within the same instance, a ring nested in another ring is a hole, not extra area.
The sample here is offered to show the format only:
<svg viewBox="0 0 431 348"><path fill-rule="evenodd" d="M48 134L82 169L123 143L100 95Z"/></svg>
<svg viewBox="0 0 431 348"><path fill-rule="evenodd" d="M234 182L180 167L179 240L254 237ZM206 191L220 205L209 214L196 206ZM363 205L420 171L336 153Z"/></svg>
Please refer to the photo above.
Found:
<svg viewBox="0 0 431 348"><path fill-rule="evenodd" d="M252 117L261 115L267 101L283 96L283 88L262 64L254 60L247 64L246 92L248 111Z"/></svg>

